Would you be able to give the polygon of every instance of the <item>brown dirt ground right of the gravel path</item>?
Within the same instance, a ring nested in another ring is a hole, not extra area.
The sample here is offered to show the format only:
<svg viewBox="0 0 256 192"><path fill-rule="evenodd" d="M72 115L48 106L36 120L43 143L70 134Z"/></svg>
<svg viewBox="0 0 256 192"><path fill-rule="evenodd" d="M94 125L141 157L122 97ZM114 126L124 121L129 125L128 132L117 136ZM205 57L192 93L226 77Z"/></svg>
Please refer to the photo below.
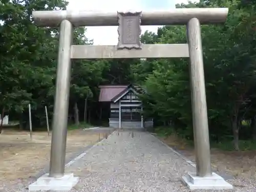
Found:
<svg viewBox="0 0 256 192"><path fill-rule="evenodd" d="M178 150L187 159L195 162L195 151L191 146L175 136L161 138L160 140ZM211 149L211 165L217 172L230 174L234 179L256 180L256 151L229 152Z"/></svg>

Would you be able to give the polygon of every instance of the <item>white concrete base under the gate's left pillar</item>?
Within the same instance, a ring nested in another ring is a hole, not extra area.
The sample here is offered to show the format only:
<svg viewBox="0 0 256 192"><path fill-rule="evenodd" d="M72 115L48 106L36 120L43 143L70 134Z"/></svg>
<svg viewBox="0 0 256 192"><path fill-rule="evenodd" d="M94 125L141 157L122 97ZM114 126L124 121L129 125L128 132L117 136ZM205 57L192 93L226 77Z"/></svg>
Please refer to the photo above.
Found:
<svg viewBox="0 0 256 192"><path fill-rule="evenodd" d="M45 174L29 185L29 191L69 191L74 187L79 178L73 174L65 174L60 178L49 177Z"/></svg>

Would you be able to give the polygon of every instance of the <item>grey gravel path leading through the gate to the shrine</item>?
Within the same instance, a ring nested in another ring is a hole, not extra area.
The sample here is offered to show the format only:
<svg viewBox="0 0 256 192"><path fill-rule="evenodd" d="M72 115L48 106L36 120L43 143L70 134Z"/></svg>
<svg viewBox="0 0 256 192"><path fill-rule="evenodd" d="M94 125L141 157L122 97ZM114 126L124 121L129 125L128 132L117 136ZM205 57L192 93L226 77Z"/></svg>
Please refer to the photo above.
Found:
<svg viewBox="0 0 256 192"><path fill-rule="evenodd" d="M71 165L72 192L188 191L181 176L194 167L147 132L115 132Z"/></svg>

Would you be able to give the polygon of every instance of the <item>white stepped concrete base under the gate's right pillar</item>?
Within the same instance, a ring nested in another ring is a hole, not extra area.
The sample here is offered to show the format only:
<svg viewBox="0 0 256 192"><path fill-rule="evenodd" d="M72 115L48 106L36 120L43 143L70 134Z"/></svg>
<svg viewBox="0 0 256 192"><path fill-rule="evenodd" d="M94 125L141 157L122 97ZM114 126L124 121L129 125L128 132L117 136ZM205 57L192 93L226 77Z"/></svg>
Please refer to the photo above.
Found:
<svg viewBox="0 0 256 192"><path fill-rule="evenodd" d="M232 189L233 186L227 183L221 176L212 173L209 177L198 177L196 173L188 173L182 177L182 181L190 190L196 189Z"/></svg>

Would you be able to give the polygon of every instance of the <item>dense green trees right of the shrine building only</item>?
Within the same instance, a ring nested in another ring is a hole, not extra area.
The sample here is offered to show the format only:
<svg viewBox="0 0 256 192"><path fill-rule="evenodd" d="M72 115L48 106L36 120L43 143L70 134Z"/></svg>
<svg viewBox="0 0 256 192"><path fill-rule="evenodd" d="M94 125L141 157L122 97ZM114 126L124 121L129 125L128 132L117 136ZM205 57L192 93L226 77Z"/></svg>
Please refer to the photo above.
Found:
<svg viewBox="0 0 256 192"><path fill-rule="evenodd" d="M255 139L256 133L254 3L210 1L177 5L178 8L224 6L229 7L224 25L202 26L209 131L212 140L233 138L238 150L239 135L243 139L251 139L251 136ZM158 34L144 34L142 41L184 43L185 27L165 26ZM144 63L135 67L137 72L143 71L142 75L136 73L136 77L148 91L143 96L148 115L158 117L160 124L172 124L182 136L193 138L188 60L150 62L150 65ZM251 127L244 126L248 124Z"/></svg>

